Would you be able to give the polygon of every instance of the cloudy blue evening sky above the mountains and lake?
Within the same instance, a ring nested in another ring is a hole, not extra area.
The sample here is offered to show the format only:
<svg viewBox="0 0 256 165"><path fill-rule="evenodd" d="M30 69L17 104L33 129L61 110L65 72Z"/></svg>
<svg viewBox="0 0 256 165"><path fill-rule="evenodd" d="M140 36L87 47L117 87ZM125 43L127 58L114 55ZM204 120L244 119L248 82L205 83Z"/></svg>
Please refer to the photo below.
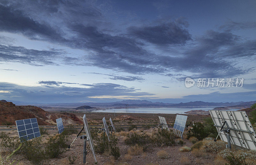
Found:
<svg viewBox="0 0 256 165"><path fill-rule="evenodd" d="M255 101L255 9L249 0L0 0L0 100Z"/></svg>

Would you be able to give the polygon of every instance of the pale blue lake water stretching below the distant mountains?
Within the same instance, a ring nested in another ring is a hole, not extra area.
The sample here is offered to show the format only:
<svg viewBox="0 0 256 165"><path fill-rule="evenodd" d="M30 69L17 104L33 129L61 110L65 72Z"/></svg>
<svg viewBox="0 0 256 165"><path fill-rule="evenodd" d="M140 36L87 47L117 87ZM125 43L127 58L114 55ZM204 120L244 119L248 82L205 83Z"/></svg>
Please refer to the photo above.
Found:
<svg viewBox="0 0 256 165"><path fill-rule="evenodd" d="M201 108L130 108L130 113L166 113L166 114L184 114L184 112L190 110L211 110L215 107L201 107ZM231 109L231 110L238 110L238 109ZM125 113L125 109L106 109L106 110L96 110L93 112L110 112L110 113Z"/></svg>

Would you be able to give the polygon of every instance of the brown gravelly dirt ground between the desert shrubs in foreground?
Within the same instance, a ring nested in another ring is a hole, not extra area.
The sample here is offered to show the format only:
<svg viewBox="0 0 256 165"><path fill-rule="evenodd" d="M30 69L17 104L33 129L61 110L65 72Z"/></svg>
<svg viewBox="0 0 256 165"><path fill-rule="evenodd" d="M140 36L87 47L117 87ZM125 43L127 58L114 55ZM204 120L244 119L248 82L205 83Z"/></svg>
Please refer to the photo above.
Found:
<svg viewBox="0 0 256 165"><path fill-rule="evenodd" d="M142 129L141 129L142 130ZM141 131L136 130L136 131ZM156 131L154 128L150 128L148 130L143 130L143 132L152 133ZM17 131L7 131L9 136L15 137L17 135ZM56 130L48 130L50 135L56 135ZM84 133L84 132L83 132ZM184 132L186 133L186 132ZM214 159L214 154L208 154L204 157L195 157L191 152L180 152L181 145L174 146L162 146L162 147L152 147L148 149L147 152L141 152L140 155L131 156L130 158L125 158L127 154L127 150L131 147L129 145L124 144L124 136L116 133L118 137L118 146L120 148L120 158L118 160L114 160L112 156L108 154L96 154L96 159L98 164L211 164ZM46 142L46 138L48 135L42 135L43 142ZM70 135L71 139L74 139L76 134ZM178 139L177 139L178 140ZM191 147L192 143L187 139L183 139L185 144L183 146ZM160 150L164 150L167 152L168 156L166 159L160 159L157 156L157 152ZM87 164L94 164L94 158L92 152L90 150L89 144L87 143ZM76 156L77 159L74 164L83 164L83 139L76 139L70 149L67 150L64 154L61 154L56 159L49 159L45 164L68 164L68 156ZM22 155L13 155L12 161L19 160L19 164L31 164L30 161L26 160L26 158Z"/></svg>

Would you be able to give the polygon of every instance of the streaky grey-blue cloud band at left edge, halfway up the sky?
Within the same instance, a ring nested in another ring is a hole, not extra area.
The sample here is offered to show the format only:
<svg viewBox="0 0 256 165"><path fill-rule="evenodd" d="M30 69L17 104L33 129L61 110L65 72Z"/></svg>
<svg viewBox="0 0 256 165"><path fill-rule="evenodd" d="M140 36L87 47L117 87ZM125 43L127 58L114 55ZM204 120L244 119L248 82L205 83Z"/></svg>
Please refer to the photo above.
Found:
<svg viewBox="0 0 256 165"><path fill-rule="evenodd" d="M26 49L21 46L0 44L0 61L5 62L20 62L35 66L57 65L52 60L62 55L62 52L57 51Z"/></svg>

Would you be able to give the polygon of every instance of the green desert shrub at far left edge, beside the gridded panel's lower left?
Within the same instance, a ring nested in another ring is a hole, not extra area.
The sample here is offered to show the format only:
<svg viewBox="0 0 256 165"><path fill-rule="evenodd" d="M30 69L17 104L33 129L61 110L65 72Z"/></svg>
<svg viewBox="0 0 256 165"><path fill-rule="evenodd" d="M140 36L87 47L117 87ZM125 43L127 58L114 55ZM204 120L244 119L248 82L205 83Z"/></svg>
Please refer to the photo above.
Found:
<svg viewBox="0 0 256 165"><path fill-rule="evenodd" d="M9 137L6 133L2 134L1 146L3 146L7 151L15 151L20 146L20 139L18 137ZM20 153L20 149L14 154Z"/></svg>

